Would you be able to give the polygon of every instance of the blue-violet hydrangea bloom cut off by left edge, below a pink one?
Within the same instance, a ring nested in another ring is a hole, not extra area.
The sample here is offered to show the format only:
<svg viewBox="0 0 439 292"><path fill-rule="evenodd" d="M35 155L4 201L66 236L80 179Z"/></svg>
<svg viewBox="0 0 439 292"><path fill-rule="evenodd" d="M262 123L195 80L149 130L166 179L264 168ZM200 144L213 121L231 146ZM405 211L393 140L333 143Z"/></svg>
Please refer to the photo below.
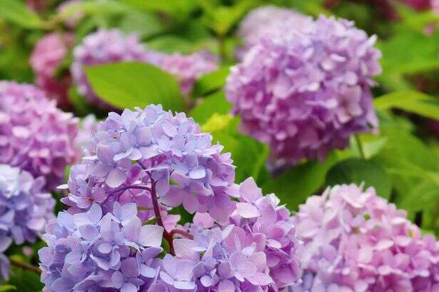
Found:
<svg viewBox="0 0 439 292"><path fill-rule="evenodd" d="M54 217L55 200L42 191L44 178L0 164L0 280L8 277L9 261L2 253L11 243L35 242Z"/></svg>

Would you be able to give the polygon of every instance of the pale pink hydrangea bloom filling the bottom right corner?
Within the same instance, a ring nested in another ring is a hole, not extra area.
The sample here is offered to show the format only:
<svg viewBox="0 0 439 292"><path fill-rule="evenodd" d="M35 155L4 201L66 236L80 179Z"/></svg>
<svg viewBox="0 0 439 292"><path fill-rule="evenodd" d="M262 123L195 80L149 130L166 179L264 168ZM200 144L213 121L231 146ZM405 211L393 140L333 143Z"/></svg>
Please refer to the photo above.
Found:
<svg viewBox="0 0 439 292"><path fill-rule="evenodd" d="M303 286L293 291L439 289L439 242L373 188L334 186L294 218L303 241Z"/></svg>

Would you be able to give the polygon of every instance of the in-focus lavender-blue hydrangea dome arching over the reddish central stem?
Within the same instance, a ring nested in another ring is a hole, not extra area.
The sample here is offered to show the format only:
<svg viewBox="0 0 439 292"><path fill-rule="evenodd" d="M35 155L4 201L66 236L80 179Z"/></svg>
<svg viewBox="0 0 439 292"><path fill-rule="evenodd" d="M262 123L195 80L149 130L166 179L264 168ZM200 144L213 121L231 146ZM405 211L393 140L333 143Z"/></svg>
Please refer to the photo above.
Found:
<svg viewBox="0 0 439 292"><path fill-rule="evenodd" d="M164 206L183 204L191 213L208 211L226 221L233 211L226 189L234 166L230 153L221 153L223 146L211 140L193 119L161 106L110 113L84 145L82 163L71 169L70 194L63 201L73 213L92 203L107 211L119 201L136 202L153 214L153 194Z"/></svg>

